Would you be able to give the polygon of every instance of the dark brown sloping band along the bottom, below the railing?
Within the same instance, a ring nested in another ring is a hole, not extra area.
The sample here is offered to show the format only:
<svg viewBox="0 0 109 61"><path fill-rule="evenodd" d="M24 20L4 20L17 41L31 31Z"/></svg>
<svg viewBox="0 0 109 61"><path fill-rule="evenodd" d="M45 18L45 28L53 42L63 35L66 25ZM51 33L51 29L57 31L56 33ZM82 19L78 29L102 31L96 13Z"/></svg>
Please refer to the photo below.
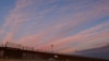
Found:
<svg viewBox="0 0 109 61"><path fill-rule="evenodd" d="M108 61L106 59L97 59L97 58L89 58L89 57L83 57L83 56L70 56L70 54L62 54L62 53L55 53L55 52L43 52L37 50L31 50L25 48L16 48L16 47L10 47L8 44L4 46L0 46L0 60L22 60L22 61L33 61L33 60L44 60L44 61Z"/></svg>

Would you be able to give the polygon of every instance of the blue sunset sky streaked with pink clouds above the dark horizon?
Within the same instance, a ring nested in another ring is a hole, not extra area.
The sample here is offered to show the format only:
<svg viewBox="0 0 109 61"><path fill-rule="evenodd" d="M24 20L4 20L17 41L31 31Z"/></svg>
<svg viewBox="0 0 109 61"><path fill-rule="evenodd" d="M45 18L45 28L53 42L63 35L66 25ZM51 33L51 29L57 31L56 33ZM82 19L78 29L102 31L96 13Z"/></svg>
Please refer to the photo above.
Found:
<svg viewBox="0 0 109 61"><path fill-rule="evenodd" d="M0 44L73 53L109 45L109 0L0 0Z"/></svg>

